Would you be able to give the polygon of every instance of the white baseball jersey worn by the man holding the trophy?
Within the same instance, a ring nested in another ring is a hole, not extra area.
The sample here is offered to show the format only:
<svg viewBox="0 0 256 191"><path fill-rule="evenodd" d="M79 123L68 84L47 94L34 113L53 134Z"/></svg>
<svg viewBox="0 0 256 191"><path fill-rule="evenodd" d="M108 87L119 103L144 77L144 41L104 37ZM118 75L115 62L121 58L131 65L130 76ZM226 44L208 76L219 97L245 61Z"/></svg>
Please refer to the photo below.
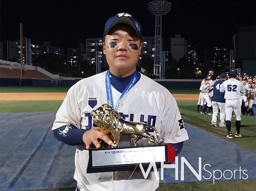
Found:
<svg viewBox="0 0 256 191"><path fill-rule="evenodd" d="M145 122L156 127L165 143L179 143L188 139L179 108L174 97L160 84L140 74L140 80L121 100L119 114L128 121ZM56 113L53 130L67 124L81 129L91 129L91 111L107 103L105 86L106 72L80 80L72 86ZM114 108L121 93L113 86ZM88 150L85 145L77 146L75 151L74 179L84 190L155 190L159 181L154 172L144 179L140 171L102 172L87 174ZM103 159L102 159L103 160ZM129 180L130 178L130 180ZM82 189L81 189L82 190Z"/></svg>

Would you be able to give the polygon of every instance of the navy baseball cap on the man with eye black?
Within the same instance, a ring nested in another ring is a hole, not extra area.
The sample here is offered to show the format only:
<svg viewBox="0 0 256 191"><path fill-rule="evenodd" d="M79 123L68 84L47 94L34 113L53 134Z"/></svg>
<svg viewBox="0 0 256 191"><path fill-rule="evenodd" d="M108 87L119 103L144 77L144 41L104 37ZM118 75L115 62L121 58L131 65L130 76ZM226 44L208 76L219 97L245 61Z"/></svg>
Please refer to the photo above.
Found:
<svg viewBox="0 0 256 191"><path fill-rule="evenodd" d="M137 19L128 13L119 13L107 19L103 36L105 36L112 27L120 23L130 25L136 31L139 38L142 39L141 26L139 21L137 21Z"/></svg>

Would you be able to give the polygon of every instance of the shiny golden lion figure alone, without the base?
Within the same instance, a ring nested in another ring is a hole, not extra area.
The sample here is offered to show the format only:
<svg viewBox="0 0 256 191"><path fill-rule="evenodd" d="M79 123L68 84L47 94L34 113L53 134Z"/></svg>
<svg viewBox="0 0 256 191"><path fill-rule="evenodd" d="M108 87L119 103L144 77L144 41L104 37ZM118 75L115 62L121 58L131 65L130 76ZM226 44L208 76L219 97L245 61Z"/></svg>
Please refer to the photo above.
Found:
<svg viewBox="0 0 256 191"><path fill-rule="evenodd" d="M141 138L148 138L149 145L153 143L163 143L163 139L159 139L158 131L154 126L147 125L141 122L130 122L121 118L121 116L107 104L103 104L101 107L91 112L93 122L97 127L100 127L100 131L109 135L112 139L112 148L119 146L119 139L121 135L136 135L135 138L130 139L130 143L136 143ZM153 129L156 132L156 140L152 134L147 132L147 128Z"/></svg>

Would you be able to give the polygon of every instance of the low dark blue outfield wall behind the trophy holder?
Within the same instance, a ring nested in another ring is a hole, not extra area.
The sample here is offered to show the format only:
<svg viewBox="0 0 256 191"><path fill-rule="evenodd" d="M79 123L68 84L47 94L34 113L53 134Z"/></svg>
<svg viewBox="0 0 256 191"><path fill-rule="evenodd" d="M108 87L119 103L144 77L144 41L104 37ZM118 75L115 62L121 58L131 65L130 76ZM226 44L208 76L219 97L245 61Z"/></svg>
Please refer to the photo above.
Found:
<svg viewBox="0 0 256 191"><path fill-rule="evenodd" d="M34 79L34 78L0 78L0 86L68 86L71 87L82 78L74 79ZM154 79L166 88L199 88L201 79Z"/></svg>

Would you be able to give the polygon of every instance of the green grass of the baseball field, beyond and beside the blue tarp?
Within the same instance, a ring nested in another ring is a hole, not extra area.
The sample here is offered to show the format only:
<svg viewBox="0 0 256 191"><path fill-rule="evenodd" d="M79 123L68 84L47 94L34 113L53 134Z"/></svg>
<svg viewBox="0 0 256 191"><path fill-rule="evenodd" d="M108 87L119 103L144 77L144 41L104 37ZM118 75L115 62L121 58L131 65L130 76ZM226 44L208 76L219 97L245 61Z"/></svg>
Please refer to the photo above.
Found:
<svg viewBox="0 0 256 191"><path fill-rule="evenodd" d="M0 87L0 93L11 92L67 92L68 87ZM173 94L197 94L198 89L169 89ZM1 113L12 112L56 112L60 107L61 100L25 100L25 101L0 101ZM179 110L181 112L184 122L189 123L197 128L203 129L215 136L226 139L225 127L212 127L210 124L211 115L196 113L197 101L193 100L177 100ZM219 116L218 116L219 117ZM217 118L218 118L217 117ZM243 138L226 139L242 148L256 153L256 122L253 116L242 115L241 132ZM217 121L218 122L218 121ZM234 119L231 122L231 130L235 132ZM213 185L212 182L189 182L189 183L172 183L160 184L157 191L227 191L227 190L244 190L251 191L256 187L255 180L243 181L217 181ZM47 189L44 191L74 191L75 188L67 189ZM38 190L39 191L39 190Z"/></svg>

